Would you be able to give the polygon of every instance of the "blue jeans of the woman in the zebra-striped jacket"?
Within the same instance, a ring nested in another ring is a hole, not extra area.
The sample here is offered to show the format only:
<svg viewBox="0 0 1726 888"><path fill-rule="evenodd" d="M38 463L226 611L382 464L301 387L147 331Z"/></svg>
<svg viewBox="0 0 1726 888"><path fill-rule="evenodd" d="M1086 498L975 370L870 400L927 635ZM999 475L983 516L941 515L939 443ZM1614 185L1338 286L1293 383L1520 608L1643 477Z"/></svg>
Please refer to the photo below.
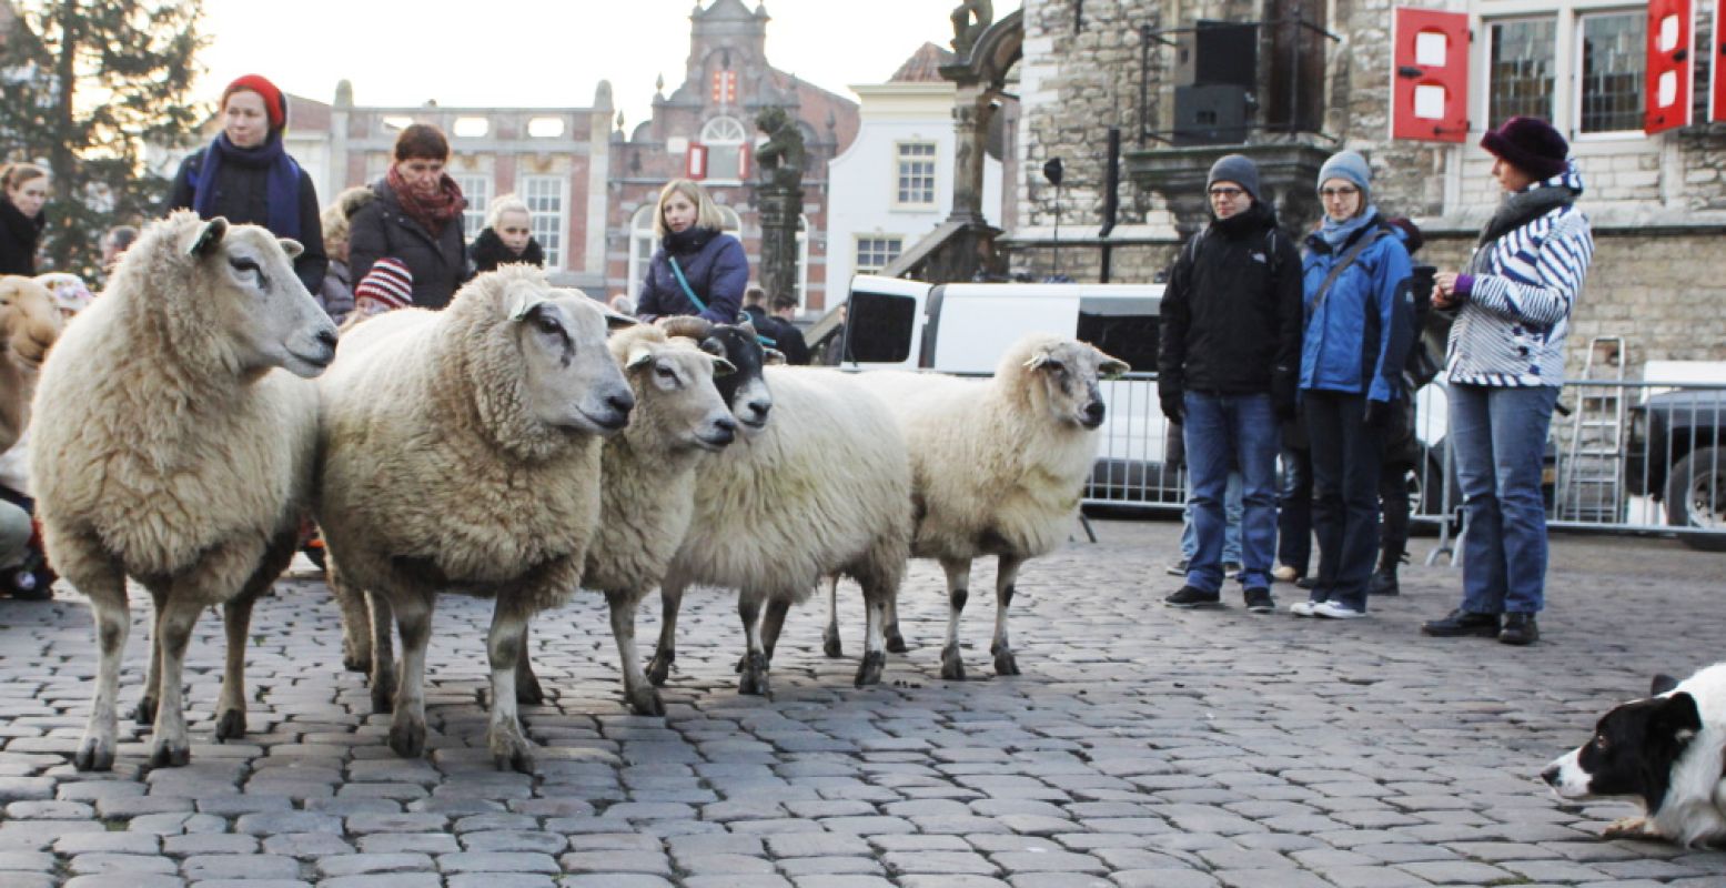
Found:
<svg viewBox="0 0 1726 888"><path fill-rule="evenodd" d="M1450 441L1467 513L1462 610L1540 613L1546 605L1541 458L1557 385L1450 385Z"/></svg>

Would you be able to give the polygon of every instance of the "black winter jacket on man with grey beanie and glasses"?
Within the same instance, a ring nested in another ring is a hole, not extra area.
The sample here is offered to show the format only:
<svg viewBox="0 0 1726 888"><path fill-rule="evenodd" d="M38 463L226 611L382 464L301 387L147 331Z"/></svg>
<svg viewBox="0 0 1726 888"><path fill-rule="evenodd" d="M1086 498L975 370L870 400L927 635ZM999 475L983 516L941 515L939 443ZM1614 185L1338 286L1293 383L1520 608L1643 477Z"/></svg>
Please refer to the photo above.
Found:
<svg viewBox="0 0 1726 888"><path fill-rule="evenodd" d="M1158 392L1270 394L1293 409L1300 278L1300 252L1263 204L1193 235L1163 290Z"/></svg>

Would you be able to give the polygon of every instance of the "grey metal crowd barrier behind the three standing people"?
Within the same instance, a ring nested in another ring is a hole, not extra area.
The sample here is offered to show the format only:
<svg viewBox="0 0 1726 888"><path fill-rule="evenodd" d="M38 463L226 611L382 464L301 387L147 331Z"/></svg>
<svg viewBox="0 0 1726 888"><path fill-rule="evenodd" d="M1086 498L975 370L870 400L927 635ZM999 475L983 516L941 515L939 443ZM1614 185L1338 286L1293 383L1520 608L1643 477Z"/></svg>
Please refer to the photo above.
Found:
<svg viewBox="0 0 1726 888"><path fill-rule="evenodd" d="M1103 384L1110 420L1101 430L1086 504L1172 510L1186 501L1186 472L1167 460L1169 423L1156 377ZM1460 523L1462 494L1448 458L1441 385L1415 396L1420 458L1410 511L1446 536ZM1548 525L1569 530L1672 534L1726 549L1726 385L1571 382L1546 442L1541 492Z"/></svg>

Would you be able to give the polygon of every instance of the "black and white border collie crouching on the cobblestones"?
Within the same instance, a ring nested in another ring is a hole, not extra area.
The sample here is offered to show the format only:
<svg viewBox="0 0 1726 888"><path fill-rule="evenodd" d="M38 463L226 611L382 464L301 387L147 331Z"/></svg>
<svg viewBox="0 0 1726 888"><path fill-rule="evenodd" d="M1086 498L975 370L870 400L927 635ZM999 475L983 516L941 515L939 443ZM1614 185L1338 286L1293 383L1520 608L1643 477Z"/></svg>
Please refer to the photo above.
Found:
<svg viewBox="0 0 1726 888"><path fill-rule="evenodd" d="M1541 779L1564 798L1641 802L1641 817L1607 838L1714 845L1726 840L1726 662L1683 682L1654 679L1654 696L1605 714L1584 746L1553 760Z"/></svg>

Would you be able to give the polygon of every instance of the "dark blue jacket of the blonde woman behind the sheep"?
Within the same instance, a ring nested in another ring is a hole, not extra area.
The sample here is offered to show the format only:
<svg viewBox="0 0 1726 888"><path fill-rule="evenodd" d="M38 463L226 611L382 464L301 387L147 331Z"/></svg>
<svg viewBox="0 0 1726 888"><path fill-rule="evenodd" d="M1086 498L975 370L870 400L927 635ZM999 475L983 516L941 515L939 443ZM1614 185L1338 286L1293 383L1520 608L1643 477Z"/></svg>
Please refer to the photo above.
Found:
<svg viewBox="0 0 1726 888"><path fill-rule="evenodd" d="M683 271L689 287L706 302L696 308L683 285L671 273L670 259ZM699 314L713 323L737 323L744 289L749 287L749 259L735 237L713 228L690 228L659 242L647 263L647 278L635 299L635 314L652 320L665 314Z"/></svg>

